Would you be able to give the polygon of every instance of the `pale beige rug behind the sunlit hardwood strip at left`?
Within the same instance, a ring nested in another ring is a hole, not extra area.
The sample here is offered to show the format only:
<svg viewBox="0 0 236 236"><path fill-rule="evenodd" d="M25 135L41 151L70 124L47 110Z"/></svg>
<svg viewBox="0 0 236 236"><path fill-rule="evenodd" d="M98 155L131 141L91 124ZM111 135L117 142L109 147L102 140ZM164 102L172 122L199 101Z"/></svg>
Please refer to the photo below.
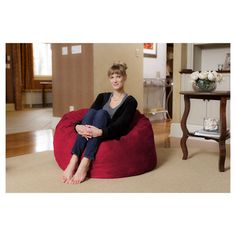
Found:
<svg viewBox="0 0 236 236"><path fill-rule="evenodd" d="M52 128L52 108L34 108L6 113L6 134Z"/></svg>

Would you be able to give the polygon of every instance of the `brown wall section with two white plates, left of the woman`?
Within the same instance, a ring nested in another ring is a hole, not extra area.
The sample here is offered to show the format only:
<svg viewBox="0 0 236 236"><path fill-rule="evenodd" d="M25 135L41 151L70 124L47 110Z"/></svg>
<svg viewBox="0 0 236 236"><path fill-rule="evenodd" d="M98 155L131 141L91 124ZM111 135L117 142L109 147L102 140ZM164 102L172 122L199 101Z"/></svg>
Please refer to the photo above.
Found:
<svg viewBox="0 0 236 236"><path fill-rule="evenodd" d="M71 46L81 45L82 53L72 54ZM62 55L67 47L68 54ZM53 116L89 107L93 101L93 45L52 44Z"/></svg>

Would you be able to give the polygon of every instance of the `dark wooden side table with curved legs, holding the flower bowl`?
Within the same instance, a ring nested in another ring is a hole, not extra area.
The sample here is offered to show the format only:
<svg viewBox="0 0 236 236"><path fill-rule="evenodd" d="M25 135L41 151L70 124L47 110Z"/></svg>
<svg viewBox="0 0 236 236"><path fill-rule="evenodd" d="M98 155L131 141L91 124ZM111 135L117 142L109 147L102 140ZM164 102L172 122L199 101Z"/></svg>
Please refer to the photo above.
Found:
<svg viewBox="0 0 236 236"><path fill-rule="evenodd" d="M226 148L225 141L230 138L230 131L227 130L226 125L226 104L227 100L230 99L230 91L219 91L219 92L194 92L194 91L181 91L180 94L184 95L184 113L181 119L181 129L183 131L183 136L180 140L181 149L183 152L183 160L188 158L188 148L186 141L189 136L200 137L205 139L212 139L219 143L219 171L224 172ZM190 112L190 100L191 99L203 99L203 100L220 100L220 135L218 137L210 137L204 135L195 135L188 131L187 128L187 118Z"/></svg>

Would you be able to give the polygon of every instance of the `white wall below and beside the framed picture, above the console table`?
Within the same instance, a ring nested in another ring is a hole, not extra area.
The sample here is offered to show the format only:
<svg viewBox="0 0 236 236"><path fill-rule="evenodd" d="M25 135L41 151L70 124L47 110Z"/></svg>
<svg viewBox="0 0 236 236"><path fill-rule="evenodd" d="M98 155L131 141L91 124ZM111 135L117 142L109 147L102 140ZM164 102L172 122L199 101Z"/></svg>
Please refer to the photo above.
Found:
<svg viewBox="0 0 236 236"><path fill-rule="evenodd" d="M144 57L144 78L156 78L157 71L160 71L160 78L166 78L166 46L166 43L157 44L157 58Z"/></svg>

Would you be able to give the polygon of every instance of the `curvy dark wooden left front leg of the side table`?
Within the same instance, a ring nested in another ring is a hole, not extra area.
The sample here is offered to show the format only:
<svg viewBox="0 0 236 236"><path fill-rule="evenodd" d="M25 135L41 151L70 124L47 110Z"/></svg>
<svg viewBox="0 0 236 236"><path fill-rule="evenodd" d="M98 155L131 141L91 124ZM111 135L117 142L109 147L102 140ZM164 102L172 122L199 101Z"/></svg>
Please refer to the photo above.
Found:
<svg viewBox="0 0 236 236"><path fill-rule="evenodd" d="M187 129L187 118L190 111L190 98L189 97L184 96L184 104L185 104L184 114L181 119L181 129L183 131L183 136L180 140L180 146L183 152L183 160L187 160L188 148L187 148L186 142L189 136L188 129Z"/></svg>

